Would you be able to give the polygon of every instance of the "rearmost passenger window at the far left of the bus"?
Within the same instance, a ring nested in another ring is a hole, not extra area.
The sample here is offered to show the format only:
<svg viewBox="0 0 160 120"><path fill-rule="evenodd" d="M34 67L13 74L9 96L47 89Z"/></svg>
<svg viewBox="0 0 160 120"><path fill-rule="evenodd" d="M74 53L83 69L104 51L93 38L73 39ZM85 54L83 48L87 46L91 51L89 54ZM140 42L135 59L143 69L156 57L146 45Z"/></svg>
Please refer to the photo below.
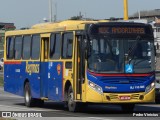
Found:
<svg viewBox="0 0 160 120"><path fill-rule="evenodd" d="M7 59L14 57L14 37L7 38Z"/></svg>

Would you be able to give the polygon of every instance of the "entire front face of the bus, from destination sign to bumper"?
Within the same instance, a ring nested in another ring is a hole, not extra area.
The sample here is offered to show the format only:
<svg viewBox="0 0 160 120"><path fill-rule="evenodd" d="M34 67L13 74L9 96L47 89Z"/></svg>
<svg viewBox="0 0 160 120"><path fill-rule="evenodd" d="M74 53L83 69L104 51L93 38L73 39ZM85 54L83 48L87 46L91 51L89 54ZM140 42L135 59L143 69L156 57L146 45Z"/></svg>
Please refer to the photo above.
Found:
<svg viewBox="0 0 160 120"><path fill-rule="evenodd" d="M86 101L120 104L124 111L133 110L135 103L154 102L154 68L150 25L100 23L88 27Z"/></svg>

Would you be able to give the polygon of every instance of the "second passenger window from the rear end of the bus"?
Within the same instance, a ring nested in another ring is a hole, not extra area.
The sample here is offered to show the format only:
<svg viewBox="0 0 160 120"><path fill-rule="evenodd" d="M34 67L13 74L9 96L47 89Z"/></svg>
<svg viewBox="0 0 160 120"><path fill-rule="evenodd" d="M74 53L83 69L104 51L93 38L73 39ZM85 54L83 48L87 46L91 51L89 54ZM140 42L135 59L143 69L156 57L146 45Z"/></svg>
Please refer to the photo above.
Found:
<svg viewBox="0 0 160 120"><path fill-rule="evenodd" d="M22 54L22 37L21 36L17 36L15 38L15 46L14 46L14 58L16 60L20 60L21 59L21 54Z"/></svg>

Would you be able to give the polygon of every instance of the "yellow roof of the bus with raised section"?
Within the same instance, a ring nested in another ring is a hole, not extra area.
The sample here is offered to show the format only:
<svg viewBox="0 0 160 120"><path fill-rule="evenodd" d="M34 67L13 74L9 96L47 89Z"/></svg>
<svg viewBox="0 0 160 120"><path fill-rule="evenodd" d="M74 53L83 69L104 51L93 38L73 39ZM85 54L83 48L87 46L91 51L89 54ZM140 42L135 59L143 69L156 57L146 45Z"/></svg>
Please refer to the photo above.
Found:
<svg viewBox="0 0 160 120"><path fill-rule="evenodd" d="M68 30L83 30L85 28L85 24L87 23L97 23L98 21L88 21L88 20L66 20L56 23L41 23L36 24L31 27L31 29L25 30L14 30L6 32L6 36L8 35L21 35L21 34L38 34L38 33L48 33L55 31L68 31ZM99 21L99 22L107 22L107 20Z"/></svg>

